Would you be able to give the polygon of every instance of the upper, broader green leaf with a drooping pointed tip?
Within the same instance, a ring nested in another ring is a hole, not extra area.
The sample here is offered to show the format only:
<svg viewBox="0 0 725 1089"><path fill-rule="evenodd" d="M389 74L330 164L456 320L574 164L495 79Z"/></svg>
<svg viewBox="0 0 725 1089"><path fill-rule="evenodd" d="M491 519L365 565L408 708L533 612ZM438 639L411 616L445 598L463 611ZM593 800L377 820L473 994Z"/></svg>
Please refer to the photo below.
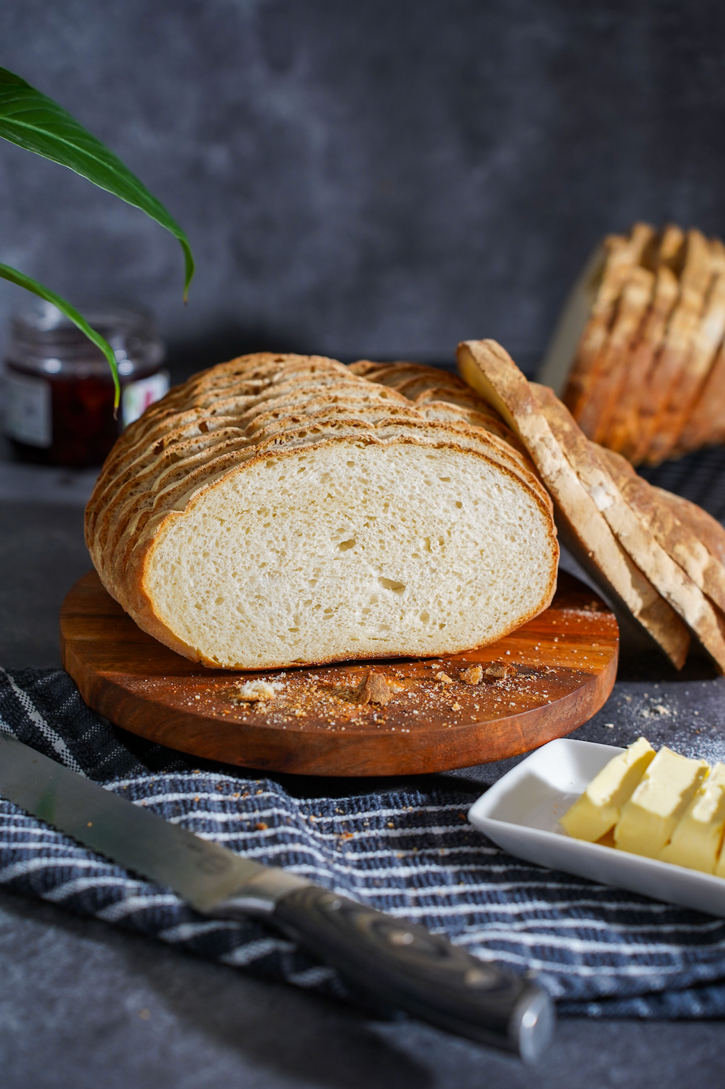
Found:
<svg viewBox="0 0 725 1089"><path fill-rule="evenodd" d="M91 136L62 106L30 87L25 79L2 68L0 68L0 136L17 144L19 147L69 167L77 174L83 174L89 182L140 208L167 231L171 231L184 250L186 262L184 302L186 302L188 285L194 276L194 257L188 238L161 201L157 200L124 167L118 156Z"/></svg>

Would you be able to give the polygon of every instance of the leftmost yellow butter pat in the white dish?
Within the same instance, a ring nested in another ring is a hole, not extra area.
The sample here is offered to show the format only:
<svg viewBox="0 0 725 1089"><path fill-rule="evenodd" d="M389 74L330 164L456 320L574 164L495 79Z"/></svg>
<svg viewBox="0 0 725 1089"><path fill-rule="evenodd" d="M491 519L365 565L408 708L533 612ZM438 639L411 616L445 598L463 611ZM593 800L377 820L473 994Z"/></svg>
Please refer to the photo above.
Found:
<svg viewBox="0 0 725 1089"><path fill-rule="evenodd" d="M605 764L560 823L575 840L593 843L614 828L624 804L654 759L654 749L640 737Z"/></svg>

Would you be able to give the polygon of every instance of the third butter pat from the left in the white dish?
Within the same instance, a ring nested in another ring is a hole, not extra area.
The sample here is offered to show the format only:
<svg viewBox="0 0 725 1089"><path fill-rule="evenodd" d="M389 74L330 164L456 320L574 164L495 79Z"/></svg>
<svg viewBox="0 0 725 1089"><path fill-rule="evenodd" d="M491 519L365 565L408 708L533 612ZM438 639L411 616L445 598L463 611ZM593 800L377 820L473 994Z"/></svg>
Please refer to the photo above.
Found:
<svg viewBox="0 0 725 1089"><path fill-rule="evenodd" d="M714 873L725 830L725 763L716 763L660 854L663 862Z"/></svg>

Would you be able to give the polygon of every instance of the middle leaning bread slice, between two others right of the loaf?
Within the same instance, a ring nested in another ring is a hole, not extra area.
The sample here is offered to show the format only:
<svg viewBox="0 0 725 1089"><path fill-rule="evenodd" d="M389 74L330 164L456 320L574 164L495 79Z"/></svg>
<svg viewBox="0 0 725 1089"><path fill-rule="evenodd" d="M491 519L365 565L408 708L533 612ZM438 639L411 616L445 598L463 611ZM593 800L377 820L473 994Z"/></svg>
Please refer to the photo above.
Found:
<svg viewBox="0 0 725 1089"><path fill-rule="evenodd" d="M649 512L642 518L627 502L599 448L587 439L566 406L544 386L532 384L532 393L567 461L622 547L725 672L725 623L721 612L662 547L649 528Z"/></svg>

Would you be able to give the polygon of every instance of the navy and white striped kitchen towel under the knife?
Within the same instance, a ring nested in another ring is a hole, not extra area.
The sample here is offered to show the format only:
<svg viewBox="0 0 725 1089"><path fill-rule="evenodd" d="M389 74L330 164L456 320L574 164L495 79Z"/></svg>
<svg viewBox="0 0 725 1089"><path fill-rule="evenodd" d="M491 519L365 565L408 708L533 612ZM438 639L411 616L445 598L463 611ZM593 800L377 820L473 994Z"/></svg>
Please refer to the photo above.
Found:
<svg viewBox="0 0 725 1089"><path fill-rule="evenodd" d="M300 799L283 781L200 768L111 726L61 671L0 671L0 730L232 851L446 933L484 960L533 969L561 1013L725 1014L724 920L513 858L467 823L472 793L420 776L405 790ZM205 919L2 799L0 886L348 996L262 923Z"/></svg>

